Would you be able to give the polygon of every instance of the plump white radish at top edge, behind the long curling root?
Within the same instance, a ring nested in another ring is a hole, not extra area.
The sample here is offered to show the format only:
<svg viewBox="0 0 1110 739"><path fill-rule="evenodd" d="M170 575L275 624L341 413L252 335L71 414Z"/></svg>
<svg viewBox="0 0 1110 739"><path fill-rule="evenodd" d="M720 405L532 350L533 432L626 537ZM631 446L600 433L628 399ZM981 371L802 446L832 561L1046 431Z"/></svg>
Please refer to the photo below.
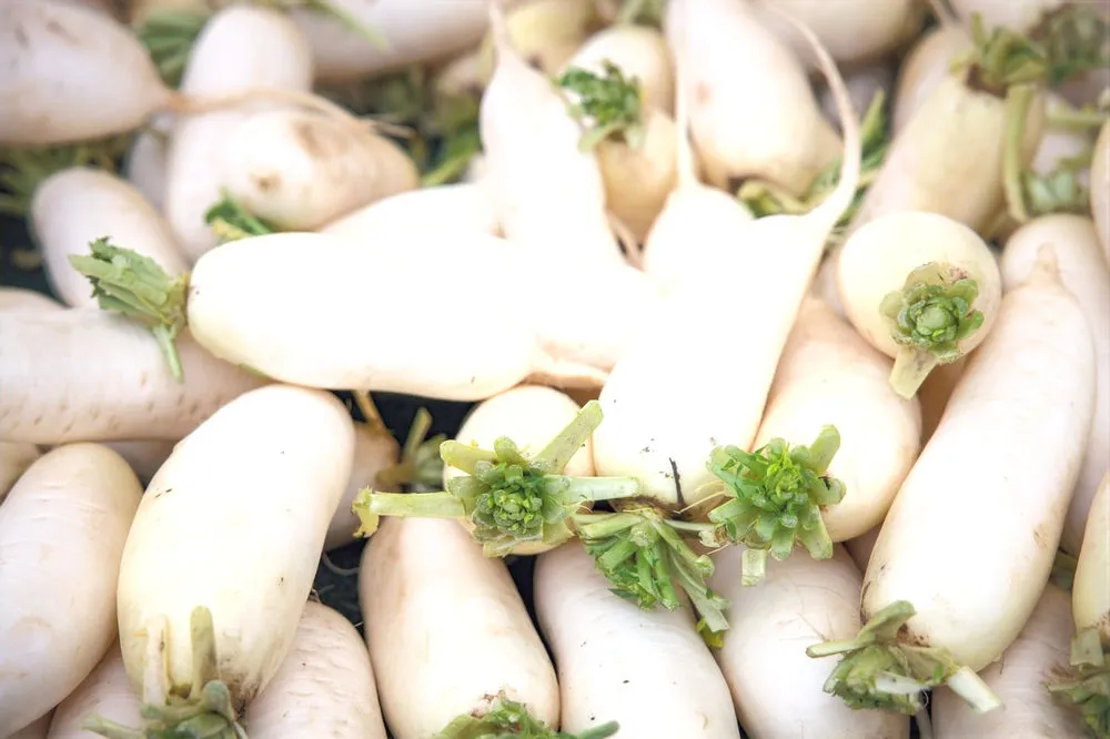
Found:
<svg viewBox="0 0 1110 739"><path fill-rule="evenodd" d="M664 31L687 78L690 134L709 182L731 189L759 178L800 193L836 159L840 141L801 62L760 22L764 7L676 0Z"/></svg>

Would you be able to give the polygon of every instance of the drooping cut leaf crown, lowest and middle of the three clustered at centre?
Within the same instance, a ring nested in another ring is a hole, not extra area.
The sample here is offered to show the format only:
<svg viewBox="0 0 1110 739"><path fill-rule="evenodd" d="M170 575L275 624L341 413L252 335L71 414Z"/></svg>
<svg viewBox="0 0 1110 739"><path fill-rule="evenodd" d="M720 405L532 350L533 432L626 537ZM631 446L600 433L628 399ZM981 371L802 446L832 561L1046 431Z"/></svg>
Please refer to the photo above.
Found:
<svg viewBox="0 0 1110 739"><path fill-rule="evenodd" d="M617 513L575 516L575 530L597 568L613 584L612 591L640 608L682 607L675 583L702 616L699 627L713 634L728 628L728 601L709 589L713 560L683 540L682 532L698 524L668 520L644 506L619 506ZM707 529L709 527L705 527ZM703 529L703 530L705 530Z"/></svg>

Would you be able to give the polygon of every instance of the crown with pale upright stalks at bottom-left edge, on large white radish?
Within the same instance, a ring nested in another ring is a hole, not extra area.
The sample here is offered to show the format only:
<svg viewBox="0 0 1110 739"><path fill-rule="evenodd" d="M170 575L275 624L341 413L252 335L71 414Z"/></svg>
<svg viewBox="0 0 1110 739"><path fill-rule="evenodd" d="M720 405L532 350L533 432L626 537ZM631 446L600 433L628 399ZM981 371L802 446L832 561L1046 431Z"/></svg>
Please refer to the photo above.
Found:
<svg viewBox="0 0 1110 739"><path fill-rule="evenodd" d="M143 686L144 705L140 709L140 716L147 722L144 728L121 726L100 716L87 717L81 728L108 739L246 739L246 731L238 722L231 692L219 678L212 611L203 606L194 608L190 617L190 630L193 680L184 696L165 690L164 685ZM148 650L148 654L165 659L165 634L162 632L159 638L163 644ZM167 670L163 667L161 670L148 670L147 674L165 676ZM157 698L148 692L151 689L158 694Z"/></svg>

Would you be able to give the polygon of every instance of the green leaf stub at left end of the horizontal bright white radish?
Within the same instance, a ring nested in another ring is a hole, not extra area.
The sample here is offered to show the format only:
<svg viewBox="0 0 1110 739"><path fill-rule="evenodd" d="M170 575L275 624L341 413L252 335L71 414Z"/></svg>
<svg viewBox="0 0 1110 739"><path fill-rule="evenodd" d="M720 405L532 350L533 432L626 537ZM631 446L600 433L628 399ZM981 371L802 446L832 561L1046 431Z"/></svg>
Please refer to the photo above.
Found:
<svg viewBox="0 0 1110 739"><path fill-rule="evenodd" d="M115 246L107 237L90 243L89 250L88 255L71 254L69 259L73 269L92 283L92 295L100 307L150 328L174 379L183 382L174 342L185 327L189 276L171 276L154 260Z"/></svg>

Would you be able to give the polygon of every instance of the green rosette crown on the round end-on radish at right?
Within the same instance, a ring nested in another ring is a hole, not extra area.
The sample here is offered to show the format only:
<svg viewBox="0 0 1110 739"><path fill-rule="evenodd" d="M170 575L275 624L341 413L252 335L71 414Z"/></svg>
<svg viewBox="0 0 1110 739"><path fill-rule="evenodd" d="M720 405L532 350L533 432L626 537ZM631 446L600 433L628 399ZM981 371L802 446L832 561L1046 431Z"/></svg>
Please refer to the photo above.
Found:
<svg viewBox="0 0 1110 739"><path fill-rule="evenodd" d="M895 392L914 397L937 364L962 356L959 344L983 323L975 310L978 283L950 264L929 262L906 277L900 291L882 298L879 312L890 323L890 335L901 345L890 373Z"/></svg>

